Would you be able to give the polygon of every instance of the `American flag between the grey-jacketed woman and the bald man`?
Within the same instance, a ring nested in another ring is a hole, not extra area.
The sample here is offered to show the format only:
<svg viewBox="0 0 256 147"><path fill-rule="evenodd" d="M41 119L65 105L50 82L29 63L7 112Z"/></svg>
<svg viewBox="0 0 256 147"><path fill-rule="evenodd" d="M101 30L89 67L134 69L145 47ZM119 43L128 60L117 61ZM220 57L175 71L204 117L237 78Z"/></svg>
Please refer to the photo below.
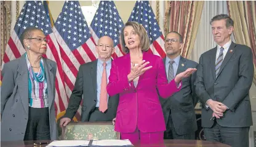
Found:
<svg viewBox="0 0 256 147"><path fill-rule="evenodd" d="M66 95L68 96L63 99L63 104L67 108L80 65L94 61L98 58L98 55L79 1L65 2L62 12L60 12L55 22L53 31L58 41L63 61L63 76L65 78ZM80 119L81 106L78 109L78 113L76 113L74 121Z"/></svg>

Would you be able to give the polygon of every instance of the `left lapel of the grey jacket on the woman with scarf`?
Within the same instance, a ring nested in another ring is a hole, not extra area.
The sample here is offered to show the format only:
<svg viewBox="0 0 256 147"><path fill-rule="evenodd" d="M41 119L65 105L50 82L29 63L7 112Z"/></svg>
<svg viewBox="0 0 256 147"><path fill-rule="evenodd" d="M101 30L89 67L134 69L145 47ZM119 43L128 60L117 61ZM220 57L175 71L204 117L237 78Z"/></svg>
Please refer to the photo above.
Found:
<svg viewBox="0 0 256 147"><path fill-rule="evenodd" d="M22 99L23 107L28 114L28 66L26 64L25 55L22 55L20 58L17 72L17 85L20 92L20 98Z"/></svg>

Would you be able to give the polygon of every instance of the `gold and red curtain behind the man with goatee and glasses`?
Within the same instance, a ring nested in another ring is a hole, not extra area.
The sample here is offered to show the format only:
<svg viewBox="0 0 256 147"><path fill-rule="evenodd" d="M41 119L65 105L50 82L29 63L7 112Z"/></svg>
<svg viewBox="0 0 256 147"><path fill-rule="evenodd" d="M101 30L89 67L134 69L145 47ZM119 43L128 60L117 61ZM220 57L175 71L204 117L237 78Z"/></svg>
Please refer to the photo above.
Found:
<svg viewBox="0 0 256 147"><path fill-rule="evenodd" d="M183 37L184 46L180 55L189 58L201 20L204 1L168 1L164 32L176 31Z"/></svg>

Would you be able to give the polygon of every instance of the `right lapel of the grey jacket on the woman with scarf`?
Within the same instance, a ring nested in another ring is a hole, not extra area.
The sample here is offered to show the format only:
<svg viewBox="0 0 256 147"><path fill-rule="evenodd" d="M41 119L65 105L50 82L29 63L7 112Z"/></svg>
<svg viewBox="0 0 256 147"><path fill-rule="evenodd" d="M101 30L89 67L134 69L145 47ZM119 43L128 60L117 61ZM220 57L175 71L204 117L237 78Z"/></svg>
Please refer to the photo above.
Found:
<svg viewBox="0 0 256 147"><path fill-rule="evenodd" d="M46 72L47 91L48 91L49 109L50 109L55 98L55 96L53 96L54 91L52 91L52 87L54 86L54 74L52 71L52 65L49 62L47 62L47 60L44 58L43 58L43 61L44 61L44 70Z"/></svg>

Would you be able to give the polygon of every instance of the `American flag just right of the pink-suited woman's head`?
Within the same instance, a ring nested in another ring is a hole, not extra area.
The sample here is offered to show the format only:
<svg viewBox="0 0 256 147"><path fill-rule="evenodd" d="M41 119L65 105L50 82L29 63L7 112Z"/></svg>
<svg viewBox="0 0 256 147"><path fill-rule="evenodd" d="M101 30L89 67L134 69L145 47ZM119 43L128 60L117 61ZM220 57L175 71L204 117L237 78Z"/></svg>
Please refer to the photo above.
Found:
<svg viewBox="0 0 256 147"><path fill-rule="evenodd" d="M136 21L144 26L151 43L151 50L148 51L162 58L166 56L164 51L164 36L162 36L161 29L148 1L136 1L128 21Z"/></svg>

